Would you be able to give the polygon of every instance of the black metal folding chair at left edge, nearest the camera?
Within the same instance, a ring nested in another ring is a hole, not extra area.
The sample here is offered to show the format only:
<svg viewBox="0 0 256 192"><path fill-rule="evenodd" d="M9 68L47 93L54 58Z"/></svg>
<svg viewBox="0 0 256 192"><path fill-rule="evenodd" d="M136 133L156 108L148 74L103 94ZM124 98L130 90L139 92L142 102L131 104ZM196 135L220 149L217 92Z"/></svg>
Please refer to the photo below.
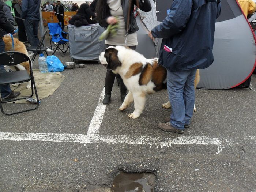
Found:
<svg viewBox="0 0 256 192"><path fill-rule="evenodd" d="M14 84L14 83L23 83L23 82L31 81L31 92L32 93L29 97L32 97L34 95L34 90L33 90L33 87L34 87L35 96L37 98L37 103L36 103L37 105L35 106L35 108L21 110L19 112L14 112L14 113L5 113L3 110L2 103L25 99L28 96L14 98L14 99L11 99L6 102L1 101L1 99L0 99L1 112L3 112L6 115L12 115L12 114L22 113L22 112L26 112L26 111L30 111L30 110L35 110L36 108L38 108L39 99L38 99L38 95L37 95L37 89L35 87L35 80L34 80L33 71L32 71L32 67L31 67L31 60L30 60L29 56L27 56L24 53L17 52L17 51L7 51L7 52L0 53L0 61L1 61L0 65L8 65L8 66L17 65L17 64L29 61L30 74L26 70L1 73L0 85L10 85L10 84Z"/></svg>

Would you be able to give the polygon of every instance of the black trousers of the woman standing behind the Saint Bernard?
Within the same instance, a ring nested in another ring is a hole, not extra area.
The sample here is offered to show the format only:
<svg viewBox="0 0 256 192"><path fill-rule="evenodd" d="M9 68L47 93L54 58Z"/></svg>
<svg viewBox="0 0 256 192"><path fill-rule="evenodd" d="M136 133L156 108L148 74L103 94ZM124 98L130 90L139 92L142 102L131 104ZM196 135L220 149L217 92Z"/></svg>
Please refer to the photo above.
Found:
<svg viewBox="0 0 256 192"><path fill-rule="evenodd" d="M111 45L106 44L105 46L108 48ZM136 46L129 46L129 48L135 50ZM107 70L105 78L105 94L111 94L116 75L118 74L114 74L111 70ZM126 92L127 88L123 82L123 79L120 77L120 95L126 95Z"/></svg>

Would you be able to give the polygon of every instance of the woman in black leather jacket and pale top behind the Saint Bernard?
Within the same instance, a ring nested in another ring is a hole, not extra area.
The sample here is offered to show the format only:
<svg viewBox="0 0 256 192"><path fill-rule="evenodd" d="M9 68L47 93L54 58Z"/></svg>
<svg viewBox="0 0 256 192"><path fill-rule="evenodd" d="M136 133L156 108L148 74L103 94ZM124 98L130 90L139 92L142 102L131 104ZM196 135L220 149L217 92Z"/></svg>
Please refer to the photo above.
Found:
<svg viewBox="0 0 256 192"><path fill-rule="evenodd" d="M111 45L124 45L135 50L136 45L138 45L136 31L139 30L139 27L137 26L136 19L133 14L133 8L137 3L142 11L148 12L151 10L149 0L98 0L96 14L99 25L107 27L109 24L113 25L119 22L117 35L109 35L105 40L106 48ZM128 27L127 22L129 23ZM105 95L102 102L103 105L108 105L110 102L115 76L116 74L111 70L107 70L105 78ZM120 96L122 101L124 101L126 91L127 88L125 87L123 80L120 78Z"/></svg>

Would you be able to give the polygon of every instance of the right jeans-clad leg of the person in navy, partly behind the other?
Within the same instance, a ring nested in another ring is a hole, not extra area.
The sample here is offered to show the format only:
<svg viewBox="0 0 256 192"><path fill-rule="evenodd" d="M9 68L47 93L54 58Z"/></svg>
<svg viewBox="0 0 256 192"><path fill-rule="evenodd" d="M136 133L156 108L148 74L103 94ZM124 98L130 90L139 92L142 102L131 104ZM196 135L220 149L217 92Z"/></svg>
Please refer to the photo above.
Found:
<svg viewBox="0 0 256 192"><path fill-rule="evenodd" d="M183 99L185 103L185 125L190 124L190 120L193 116L193 110L195 105L195 75L196 69L192 70L191 73L188 75L187 81L184 86Z"/></svg>

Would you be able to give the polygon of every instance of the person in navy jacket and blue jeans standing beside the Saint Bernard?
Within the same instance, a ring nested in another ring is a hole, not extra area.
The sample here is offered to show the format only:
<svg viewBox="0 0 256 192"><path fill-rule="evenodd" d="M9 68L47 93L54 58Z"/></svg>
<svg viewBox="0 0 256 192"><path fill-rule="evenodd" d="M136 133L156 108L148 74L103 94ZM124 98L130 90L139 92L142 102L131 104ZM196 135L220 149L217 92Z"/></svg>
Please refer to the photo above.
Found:
<svg viewBox="0 0 256 192"><path fill-rule="evenodd" d="M163 131L184 133L190 126L195 103L196 69L213 63L215 22L221 13L220 0L174 0L169 15L148 34L163 38L159 64L167 69L167 89L172 106Z"/></svg>

